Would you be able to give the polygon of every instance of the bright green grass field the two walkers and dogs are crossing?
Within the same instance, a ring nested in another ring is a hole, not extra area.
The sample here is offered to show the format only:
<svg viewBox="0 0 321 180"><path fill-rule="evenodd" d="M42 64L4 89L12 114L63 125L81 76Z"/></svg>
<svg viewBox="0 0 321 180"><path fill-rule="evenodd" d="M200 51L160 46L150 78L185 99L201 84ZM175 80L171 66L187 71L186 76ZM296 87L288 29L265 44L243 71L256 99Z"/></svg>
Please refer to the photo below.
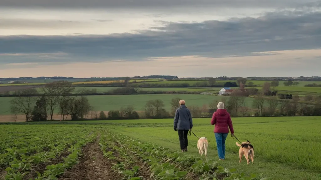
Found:
<svg viewBox="0 0 321 180"><path fill-rule="evenodd" d="M251 141L255 149L255 163L239 163L236 140L228 136L226 140L226 160L219 164L226 168L236 168L238 172L268 176L271 179L283 180L317 180L321 179L321 117L250 117L232 118L235 135L241 141ZM54 124L53 124L54 123ZM99 124L97 124L99 123ZM20 123L27 124L27 123ZM173 130L172 119L148 120L113 120L113 121L68 121L28 123L30 129L56 127L104 127L115 133L121 133L143 142L155 142L178 151L177 132ZM210 118L193 120L193 132L205 136L209 141L208 158L218 159L216 142ZM313 124L313 125L311 125ZM11 127L14 125L0 125ZM20 125L16 125L19 127ZM198 156L197 138L188 137L189 149L186 154Z"/></svg>

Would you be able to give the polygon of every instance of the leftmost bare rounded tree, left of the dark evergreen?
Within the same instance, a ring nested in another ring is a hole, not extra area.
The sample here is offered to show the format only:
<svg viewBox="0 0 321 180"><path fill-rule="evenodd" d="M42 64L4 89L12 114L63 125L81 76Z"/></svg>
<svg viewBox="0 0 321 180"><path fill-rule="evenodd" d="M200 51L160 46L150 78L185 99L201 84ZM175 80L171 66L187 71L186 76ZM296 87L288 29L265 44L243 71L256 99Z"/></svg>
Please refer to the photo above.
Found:
<svg viewBox="0 0 321 180"><path fill-rule="evenodd" d="M21 90L20 96L11 100L11 110L23 113L26 116L27 122L30 120L31 112L37 100L34 97L36 94L32 94L34 92L32 89Z"/></svg>

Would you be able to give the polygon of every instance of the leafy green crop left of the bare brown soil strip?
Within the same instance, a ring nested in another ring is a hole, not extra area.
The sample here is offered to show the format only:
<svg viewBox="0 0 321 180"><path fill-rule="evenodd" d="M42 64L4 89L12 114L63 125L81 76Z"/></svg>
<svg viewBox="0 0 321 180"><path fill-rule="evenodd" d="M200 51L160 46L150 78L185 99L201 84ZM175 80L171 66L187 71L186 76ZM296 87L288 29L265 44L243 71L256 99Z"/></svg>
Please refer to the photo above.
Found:
<svg viewBox="0 0 321 180"><path fill-rule="evenodd" d="M23 129L21 127L20 130ZM1 141L6 145L4 153L0 155L1 167L6 172L5 180L57 179L56 176L77 163L81 147L96 138L94 129L90 128L56 127L42 130L29 129L23 135L16 134L13 143ZM14 138L13 131L5 132ZM41 165L46 165L46 168L41 168Z"/></svg>

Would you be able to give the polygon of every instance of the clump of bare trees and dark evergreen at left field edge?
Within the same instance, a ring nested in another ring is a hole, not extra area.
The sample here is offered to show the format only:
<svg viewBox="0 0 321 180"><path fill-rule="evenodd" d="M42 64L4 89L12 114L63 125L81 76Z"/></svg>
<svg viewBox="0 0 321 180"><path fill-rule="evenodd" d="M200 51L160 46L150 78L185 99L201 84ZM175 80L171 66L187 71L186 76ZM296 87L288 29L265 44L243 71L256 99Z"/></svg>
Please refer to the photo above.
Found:
<svg viewBox="0 0 321 180"><path fill-rule="evenodd" d="M84 118L91 110L86 97L70 96L74 91L71 82L55 81L46 84L42 91L42 96L39 96L35 89L21 90L19 96L11 101L12 114L17 116L23 113L26 121L43 121L47 120L49 112L50 120L53 120L57 108L62 120L67 119L68 115L75 120Z"/></svg>

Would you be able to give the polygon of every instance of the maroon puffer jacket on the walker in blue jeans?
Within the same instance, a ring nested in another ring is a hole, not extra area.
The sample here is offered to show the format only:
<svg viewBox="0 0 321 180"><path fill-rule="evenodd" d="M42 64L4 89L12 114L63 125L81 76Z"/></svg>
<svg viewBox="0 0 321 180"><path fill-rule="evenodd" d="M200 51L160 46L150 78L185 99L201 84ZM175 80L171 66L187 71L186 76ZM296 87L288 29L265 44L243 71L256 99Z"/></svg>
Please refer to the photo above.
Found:
<svg viewBox="0 0 321 180"><path fill-rule="evenodd" d="M230 114L226 109L217 109L213 114L211 124L215 124L214 133L234 133L233 124Z"/></svg>

